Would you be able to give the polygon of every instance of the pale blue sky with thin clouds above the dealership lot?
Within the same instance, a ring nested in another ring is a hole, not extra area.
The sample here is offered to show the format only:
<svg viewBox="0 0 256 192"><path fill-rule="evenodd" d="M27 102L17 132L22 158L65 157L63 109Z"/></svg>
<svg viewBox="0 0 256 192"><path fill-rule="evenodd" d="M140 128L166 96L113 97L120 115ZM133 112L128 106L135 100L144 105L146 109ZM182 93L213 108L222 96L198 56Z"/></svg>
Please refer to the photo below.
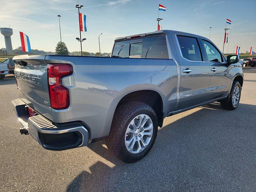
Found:
<svg viewBox="0 0 256 192"><path fill-rule="evenodd" d="M0 0L0 27L13 29L12 47L21 46L19 32L30 38L32 49L55 51L60 41L60 14L62 41L70 52L80 51L77 0ZM232 20L230 44L224 53L233 52L239 44L240 52L256 52L255 0L79 0L86 14L87 32L81 32L83 51L111 52L115 38L157 30L158 4L163 30L178 30L209 38L222 50L226 19ZM0 34L0 48L5 47ZM229 50L228 50L229 49Z"/></svg>

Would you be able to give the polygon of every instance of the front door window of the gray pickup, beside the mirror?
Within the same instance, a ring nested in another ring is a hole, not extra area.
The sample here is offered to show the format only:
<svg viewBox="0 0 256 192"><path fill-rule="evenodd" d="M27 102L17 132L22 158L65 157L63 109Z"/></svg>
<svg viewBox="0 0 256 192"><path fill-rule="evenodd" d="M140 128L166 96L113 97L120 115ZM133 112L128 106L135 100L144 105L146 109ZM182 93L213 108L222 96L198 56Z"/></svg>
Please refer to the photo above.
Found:
<svg viewBox="0 0 256 192"><path fill-rule="evenodd" d="M222 62L220 52L218 52L218 50L210 42L203 40L203 44L207 55L207 61Z"/></svg>

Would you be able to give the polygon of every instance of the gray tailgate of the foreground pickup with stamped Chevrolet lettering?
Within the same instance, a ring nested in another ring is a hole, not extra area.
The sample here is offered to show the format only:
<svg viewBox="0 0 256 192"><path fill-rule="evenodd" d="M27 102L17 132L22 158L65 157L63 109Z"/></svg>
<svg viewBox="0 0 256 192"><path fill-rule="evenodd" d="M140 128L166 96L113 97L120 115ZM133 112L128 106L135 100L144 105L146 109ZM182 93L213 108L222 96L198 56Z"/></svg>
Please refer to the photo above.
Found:
<svg viewBox="0 0 256 192"><path fill-rule="evenodd" d="M15 78L19 96L34 110L51 115L47 63L42 56L15 56Z"/></svg>

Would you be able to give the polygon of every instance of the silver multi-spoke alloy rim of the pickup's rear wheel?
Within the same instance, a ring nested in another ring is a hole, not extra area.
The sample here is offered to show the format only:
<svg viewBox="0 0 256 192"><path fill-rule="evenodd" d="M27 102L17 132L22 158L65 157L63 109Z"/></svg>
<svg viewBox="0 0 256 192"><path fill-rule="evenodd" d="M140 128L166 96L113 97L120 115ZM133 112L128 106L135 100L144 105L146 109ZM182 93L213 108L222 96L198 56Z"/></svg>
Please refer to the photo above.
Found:
<svg viewBox="0 0 256 192"><path fill-rule="evenodd" d="M128 125L125 133L126 149L132 154L142 152L153 135L153 122L146 114L136 116Z"/></svg>

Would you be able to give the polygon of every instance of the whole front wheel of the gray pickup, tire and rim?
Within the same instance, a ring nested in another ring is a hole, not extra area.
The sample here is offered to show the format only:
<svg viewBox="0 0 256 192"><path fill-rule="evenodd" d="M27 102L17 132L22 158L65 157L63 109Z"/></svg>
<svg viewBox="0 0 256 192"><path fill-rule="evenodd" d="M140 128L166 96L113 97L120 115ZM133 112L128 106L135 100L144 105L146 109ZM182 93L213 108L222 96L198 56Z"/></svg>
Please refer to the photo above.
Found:
<svg viewBox="0 0 256 192"><path fill-rule="evenodd" d="M229 96L220 101L222 108L234 110L238 107L241 98L241 85L238 81L234 81Z"/></svg>

